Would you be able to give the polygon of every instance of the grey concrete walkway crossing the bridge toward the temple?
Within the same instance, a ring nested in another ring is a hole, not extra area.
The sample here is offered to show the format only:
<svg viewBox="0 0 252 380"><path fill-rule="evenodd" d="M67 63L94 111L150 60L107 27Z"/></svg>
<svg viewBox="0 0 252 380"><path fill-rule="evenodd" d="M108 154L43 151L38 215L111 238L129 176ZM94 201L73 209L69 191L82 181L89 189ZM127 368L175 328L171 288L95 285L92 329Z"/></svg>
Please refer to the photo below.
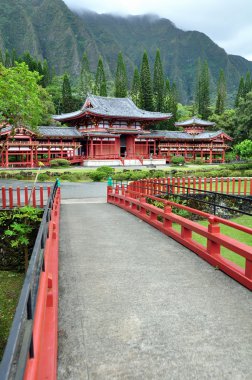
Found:
<svg viewBox="0 0 252 380"><path fill-rule="evenodd" d="M250 380L251 292L89 190L62 189L58 379Z"/></svg>

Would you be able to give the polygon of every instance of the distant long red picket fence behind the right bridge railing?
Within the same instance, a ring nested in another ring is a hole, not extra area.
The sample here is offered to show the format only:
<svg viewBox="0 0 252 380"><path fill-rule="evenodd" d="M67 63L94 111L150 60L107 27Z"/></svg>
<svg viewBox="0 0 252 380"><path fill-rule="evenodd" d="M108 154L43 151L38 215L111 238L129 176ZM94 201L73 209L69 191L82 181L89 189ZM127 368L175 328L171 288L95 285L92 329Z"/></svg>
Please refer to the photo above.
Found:
<svg viewBox="0 0 252 380"><path fill-rule="evenodd" d="M197 193L200 191L216 191L231 195L252 196L252 178L196 178L172 177L152 178L130 182L130 190L144 195ZM187 190L187 188L189 188Z"/></svg>

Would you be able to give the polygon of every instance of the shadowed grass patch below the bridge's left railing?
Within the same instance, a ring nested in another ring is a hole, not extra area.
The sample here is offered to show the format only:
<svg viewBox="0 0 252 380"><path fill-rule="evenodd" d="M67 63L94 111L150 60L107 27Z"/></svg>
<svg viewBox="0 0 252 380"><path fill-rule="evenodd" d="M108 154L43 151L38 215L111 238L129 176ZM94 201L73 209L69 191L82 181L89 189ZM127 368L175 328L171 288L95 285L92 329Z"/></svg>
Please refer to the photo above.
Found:
<svg viewBox="0 0 252 380"><path fill-rule="evenodd" d="M16 311L24 274L0 271L0 360Z"/></svg>

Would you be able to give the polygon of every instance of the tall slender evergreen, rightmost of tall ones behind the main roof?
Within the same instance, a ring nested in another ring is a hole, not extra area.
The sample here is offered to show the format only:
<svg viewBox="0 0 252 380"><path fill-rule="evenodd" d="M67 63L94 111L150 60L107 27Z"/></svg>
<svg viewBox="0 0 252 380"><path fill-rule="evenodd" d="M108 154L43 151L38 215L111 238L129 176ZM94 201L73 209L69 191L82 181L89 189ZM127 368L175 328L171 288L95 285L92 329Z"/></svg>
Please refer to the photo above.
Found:
<svg viewBox="0 0 252 380"><path fill-rule="evenodd" d="M159 49L157 50L154 64L153 100L154 110L161 112L164 103L164 72Z"/></svg>

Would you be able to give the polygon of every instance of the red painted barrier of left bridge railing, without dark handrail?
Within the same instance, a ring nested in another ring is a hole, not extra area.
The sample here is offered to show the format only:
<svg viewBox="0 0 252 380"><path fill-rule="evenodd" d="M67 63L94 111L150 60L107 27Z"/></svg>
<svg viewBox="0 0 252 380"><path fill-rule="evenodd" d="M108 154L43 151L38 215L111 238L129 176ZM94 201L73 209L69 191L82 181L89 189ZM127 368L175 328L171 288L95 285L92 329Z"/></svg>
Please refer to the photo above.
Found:
<svg viewBox="0 0 252 380"><path fill-rule="evenodd" d="M36 355L28 358L25 380L56 380L58 352L58 250L59 250L60 188L53 203L48 238L44 251L33 325Z"/></svg>

